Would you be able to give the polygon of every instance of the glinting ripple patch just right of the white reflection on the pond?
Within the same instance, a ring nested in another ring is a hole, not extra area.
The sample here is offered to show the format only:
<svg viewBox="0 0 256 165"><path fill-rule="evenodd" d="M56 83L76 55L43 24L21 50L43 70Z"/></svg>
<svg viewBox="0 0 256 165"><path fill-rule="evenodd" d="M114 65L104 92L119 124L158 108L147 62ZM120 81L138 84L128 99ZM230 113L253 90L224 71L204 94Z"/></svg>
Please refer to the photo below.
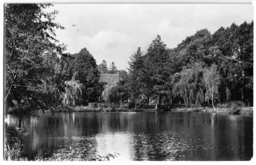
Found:
<svg viewBox="0 0 256 165"><path fill-rule="evenodd" d="M200 142L191 145L191 139L182 137L175 131L164 131L156 135L138 134L133 138L135 148L137 146L146 149L133 151L136 152L136 157L133 157L135 160L148 157L152 160L184 160L187 156L195 156L194 152L197 150L212 149L210 145Z"/></svg>

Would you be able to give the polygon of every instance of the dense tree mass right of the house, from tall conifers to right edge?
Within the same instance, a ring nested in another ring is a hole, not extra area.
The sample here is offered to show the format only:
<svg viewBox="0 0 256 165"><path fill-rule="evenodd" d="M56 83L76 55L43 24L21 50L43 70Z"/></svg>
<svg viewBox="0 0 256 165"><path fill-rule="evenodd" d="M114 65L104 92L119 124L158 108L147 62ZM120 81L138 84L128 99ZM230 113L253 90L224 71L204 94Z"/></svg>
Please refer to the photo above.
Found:
<svg viewBox="0 0 256 165"><path fill-rule="evenodd" d="M144 54L138 48L132 55L129 71L135 98L143 94L158 104L186 107L228 101L252 105L253 21L232 23L214 34L199 30L174 49L158 35Z"/></svg>

